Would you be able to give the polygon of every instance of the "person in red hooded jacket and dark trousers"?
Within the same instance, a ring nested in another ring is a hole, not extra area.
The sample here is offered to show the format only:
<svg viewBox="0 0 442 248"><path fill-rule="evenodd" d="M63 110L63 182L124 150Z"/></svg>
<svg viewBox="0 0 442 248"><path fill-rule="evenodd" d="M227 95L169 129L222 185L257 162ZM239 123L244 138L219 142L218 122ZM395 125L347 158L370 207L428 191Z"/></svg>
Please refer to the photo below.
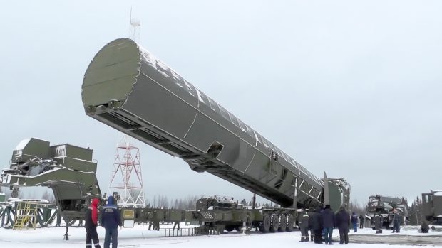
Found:
<svg viewBox="0 0 442 248"><path fill-rule="evenodd" d="M86 210L84 217L86 227L86 248L92 248L92 242L95 248L101 248L100 240L98 240L97 225L98 225L98 198L93 198L91 205Z"/></svg>

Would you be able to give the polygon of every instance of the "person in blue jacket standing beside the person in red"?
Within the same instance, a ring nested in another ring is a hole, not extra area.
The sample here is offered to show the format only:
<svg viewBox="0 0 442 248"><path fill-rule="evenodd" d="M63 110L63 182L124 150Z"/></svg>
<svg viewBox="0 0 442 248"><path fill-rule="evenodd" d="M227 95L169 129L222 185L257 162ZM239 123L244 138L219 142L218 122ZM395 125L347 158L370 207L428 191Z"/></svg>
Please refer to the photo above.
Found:
<svg viewBox="0 0 442 248"><path fill-rule="evenodd" d="M113 204L113 196L109 196L108 204L101 210L101 225L106 229L104 236L104 248L109 248L112 243L112 248L118 246L118 226L123 227L121 223L120 211L117 205Z"/></svg>

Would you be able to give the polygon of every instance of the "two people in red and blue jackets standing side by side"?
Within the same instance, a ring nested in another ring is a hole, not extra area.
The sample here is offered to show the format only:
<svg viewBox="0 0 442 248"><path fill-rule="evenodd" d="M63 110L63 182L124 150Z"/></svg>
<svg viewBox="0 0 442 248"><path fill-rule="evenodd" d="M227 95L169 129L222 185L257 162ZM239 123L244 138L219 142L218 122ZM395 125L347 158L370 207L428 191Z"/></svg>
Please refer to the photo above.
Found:
<svg viewBox="0 0 442 248"><path fill-rule="evenodd" d="M91 206L86 210L85 227L86 227L86 248L101 248L98 240L98 198L93 198ZM112 248L118 246L118 226L123 227L120 218L120 212L117 205L114 204L113 196L109 196L108 203L101 210L101 225L106 229L104 236L104 248Z"/></svg>

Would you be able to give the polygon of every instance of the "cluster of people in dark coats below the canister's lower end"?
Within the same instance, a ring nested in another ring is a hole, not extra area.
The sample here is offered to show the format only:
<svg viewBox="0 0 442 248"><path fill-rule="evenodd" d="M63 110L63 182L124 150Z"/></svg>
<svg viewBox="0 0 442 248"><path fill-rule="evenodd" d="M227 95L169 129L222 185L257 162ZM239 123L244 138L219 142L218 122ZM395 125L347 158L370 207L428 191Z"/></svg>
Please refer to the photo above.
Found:
<svg viewBox="0 0 442 248"><path fill-rule="evenodd" d="M315 244L323 244L322 232L324 232L325 244L333 244L333 229L338 227L339 244L348 244L350 222L351 217L344 206L339 208L336 215L330 205L325 205L324 209L317 207L310 212L304 210L298 220L301 229L301 241L299 242L309 242L310 230L310 240Z"/></svg>

